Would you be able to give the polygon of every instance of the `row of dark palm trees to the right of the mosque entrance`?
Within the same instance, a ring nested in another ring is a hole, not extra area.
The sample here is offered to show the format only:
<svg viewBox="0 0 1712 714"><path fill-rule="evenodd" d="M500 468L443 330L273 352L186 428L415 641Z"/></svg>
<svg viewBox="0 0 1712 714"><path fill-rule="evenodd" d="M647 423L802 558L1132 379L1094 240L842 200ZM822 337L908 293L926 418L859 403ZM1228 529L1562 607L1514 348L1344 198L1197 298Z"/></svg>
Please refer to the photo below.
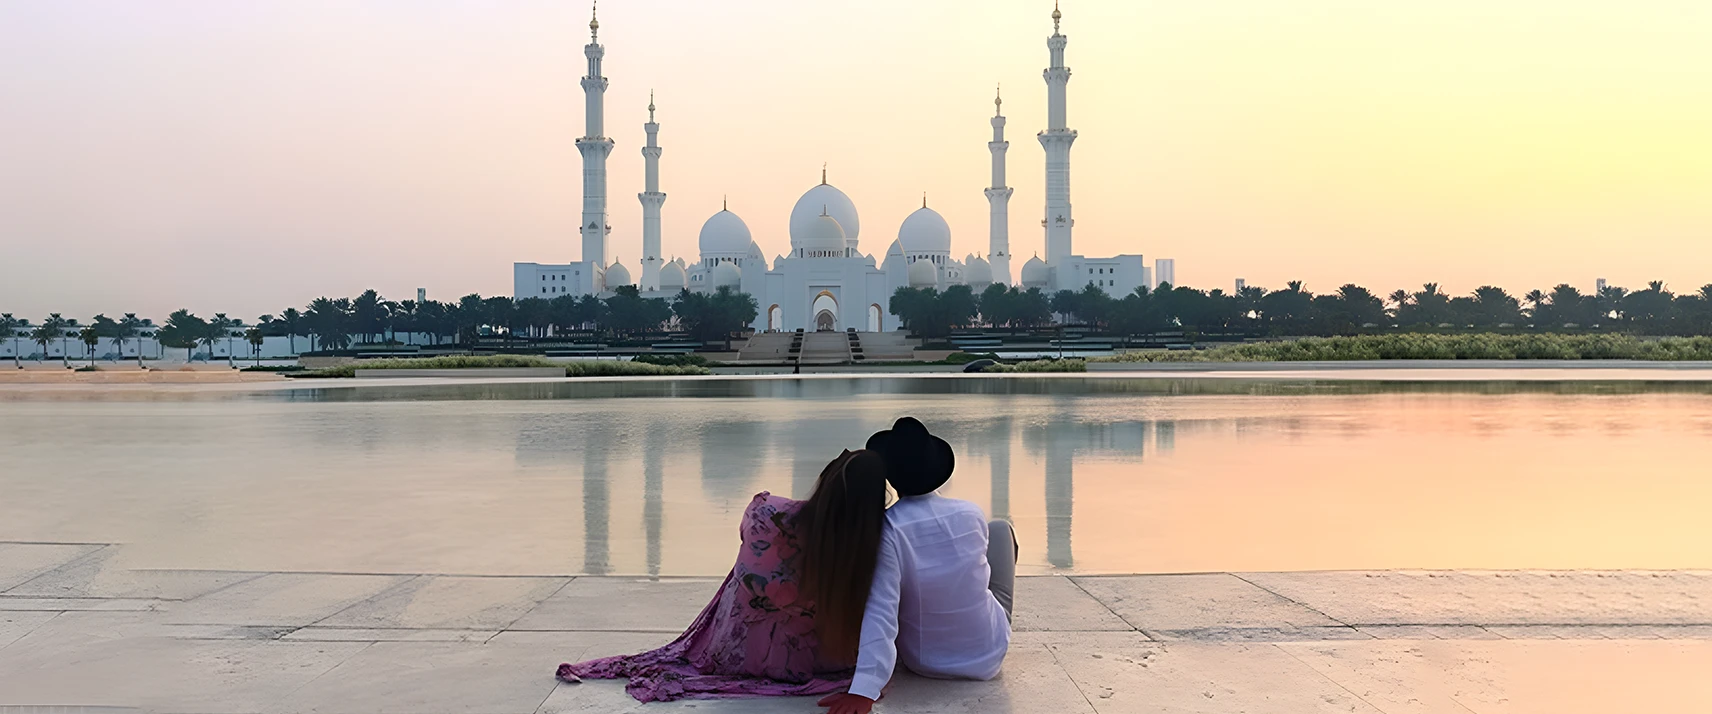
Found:
<svg viewBox="0 0 1712 714"><path fill-rule="evenodd" d="M1399 289L1385 298L1356 284L1315 295L1303 283L1289 283L1277 291L1251 286L1238 293L1164 283L1157 289L1138 288L1121 298L1096 286L1044 293L1037 288L993 284L979 295L967 286L950 286L945 291L899 288L890 308L906 329L926 339L945 337L966 327L1022 330L1065 322L1118 336L1188 332L1330 337L1395 329L1712 334L1712 284L1674 295L1664 283L1650 283L1638 291L1608 286L1596 295L1560 284L1551 291L1536 289L1522 296L1495 286L1452 296L1428 283L1419 291Z"/></svg>

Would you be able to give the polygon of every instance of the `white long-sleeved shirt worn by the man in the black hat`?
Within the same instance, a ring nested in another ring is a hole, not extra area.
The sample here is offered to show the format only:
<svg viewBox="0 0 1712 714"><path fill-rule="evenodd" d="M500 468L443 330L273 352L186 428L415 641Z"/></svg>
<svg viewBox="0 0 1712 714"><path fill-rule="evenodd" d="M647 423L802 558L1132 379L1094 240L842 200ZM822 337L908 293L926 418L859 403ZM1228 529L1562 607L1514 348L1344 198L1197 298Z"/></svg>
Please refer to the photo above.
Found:
<svg viewBox="0 0 1712 714"><path fill-rule="evenodd" d="M986 589L990 570L979 505L933 493L892 505L849 692L880 699L899 659L921 676L998 676L1010 620Z"/></svg>

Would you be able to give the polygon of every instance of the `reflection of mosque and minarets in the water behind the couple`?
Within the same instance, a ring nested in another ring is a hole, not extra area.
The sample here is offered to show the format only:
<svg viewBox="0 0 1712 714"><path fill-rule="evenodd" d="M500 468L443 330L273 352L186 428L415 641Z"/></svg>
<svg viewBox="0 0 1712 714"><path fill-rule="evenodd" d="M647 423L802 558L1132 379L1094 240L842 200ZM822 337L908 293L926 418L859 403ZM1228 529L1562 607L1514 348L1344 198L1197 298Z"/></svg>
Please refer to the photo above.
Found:
<svg viewBox="0 0 1712 714"><path fill-rule="evenodd" d="M738 517L750 497L767 490L806 498L827 461L842 449L859 449L868 433L885 428L885 421L868 414L788 421L733 416L724 421L579 419L575 426L582 438L544 438L541 430L519 430L517 455L524 467L556 467L580 481L580 572L705 575L717 570L719 553L734 546ZM1084 423L1014 416L940 419L931 428L952 443L959 459L943 493L1015 522L1024 563L1036 570L1075 567L1079 459L1118 464L1140 478L1144 454L1169 452L1176 435L1176 421ZM574 457L572 452L580 454ZM565 464L580 469L565 469ZM632 486L635 481L640 481L640 493ZM1024 488L1032 493L1022 493ZM632 526L635 515L640 515L639 529ZM627 536L635 531L640 538ZM640 543L633 543L637 539Z"/></svg>

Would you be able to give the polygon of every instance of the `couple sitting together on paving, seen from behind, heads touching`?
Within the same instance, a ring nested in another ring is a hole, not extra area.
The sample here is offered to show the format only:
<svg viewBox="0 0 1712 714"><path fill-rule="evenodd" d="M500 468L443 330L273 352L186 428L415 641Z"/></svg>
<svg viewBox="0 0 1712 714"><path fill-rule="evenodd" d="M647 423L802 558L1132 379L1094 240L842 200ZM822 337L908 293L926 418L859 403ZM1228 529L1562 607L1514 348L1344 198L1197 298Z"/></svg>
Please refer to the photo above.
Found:
<svg viewBox="0 0 1712 714"><path fill-rule="evenodd" d="M950 443L906 416L827 464L806 502L758 493L736 565L683 635L560 664L558 678L627 676L642 702L827 695L829 714L868 712L899 659L991 680L1010 646L1017 541L981 507L933 493L954 464Z"/></svg>

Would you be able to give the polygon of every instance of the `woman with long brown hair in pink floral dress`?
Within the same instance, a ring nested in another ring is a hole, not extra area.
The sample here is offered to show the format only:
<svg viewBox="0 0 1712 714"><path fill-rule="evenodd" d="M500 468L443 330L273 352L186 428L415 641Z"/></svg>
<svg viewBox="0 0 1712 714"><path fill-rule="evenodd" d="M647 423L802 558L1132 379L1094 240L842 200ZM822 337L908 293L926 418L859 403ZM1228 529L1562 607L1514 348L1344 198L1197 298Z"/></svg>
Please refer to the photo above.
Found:
<svg viewBox="0 0 1712 714"><path fill-rule="evenodd" d="M885 459L842 452L805 502L757 493L736 565L671 644L560 664L558 678L630 678L640 702L842 692L856 664L885 524Z"/></svg>

